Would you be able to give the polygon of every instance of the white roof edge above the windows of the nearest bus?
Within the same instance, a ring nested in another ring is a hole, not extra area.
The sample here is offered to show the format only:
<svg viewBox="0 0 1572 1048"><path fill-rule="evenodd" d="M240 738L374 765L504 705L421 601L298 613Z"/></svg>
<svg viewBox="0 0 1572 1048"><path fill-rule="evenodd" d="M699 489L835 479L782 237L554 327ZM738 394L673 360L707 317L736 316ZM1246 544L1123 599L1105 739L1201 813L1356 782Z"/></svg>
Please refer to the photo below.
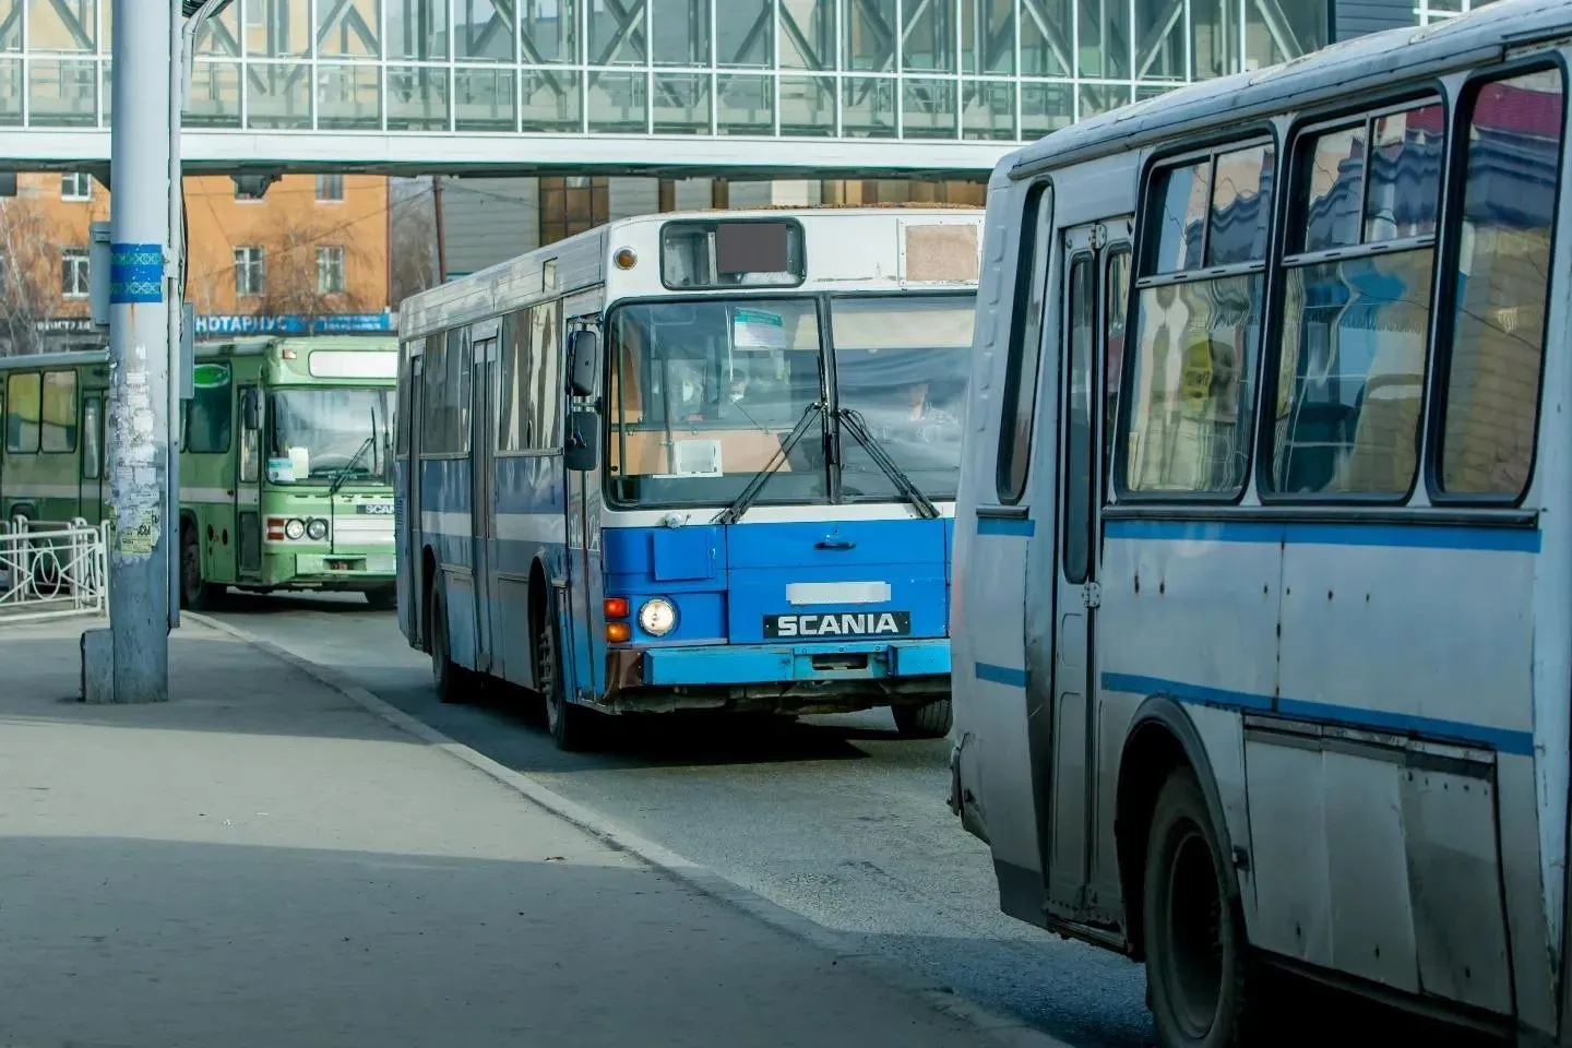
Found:
<svg viewBox="0 0 1572 1048"><path fill-rule="evenodd" d="M1093 116L1006 156L998 171L1031 178L1108 152L1501 61L1514 49L1567 35L1572 0L1501 0L1426 28L1357 36L1269 69L1206 80Z"/></svg>

